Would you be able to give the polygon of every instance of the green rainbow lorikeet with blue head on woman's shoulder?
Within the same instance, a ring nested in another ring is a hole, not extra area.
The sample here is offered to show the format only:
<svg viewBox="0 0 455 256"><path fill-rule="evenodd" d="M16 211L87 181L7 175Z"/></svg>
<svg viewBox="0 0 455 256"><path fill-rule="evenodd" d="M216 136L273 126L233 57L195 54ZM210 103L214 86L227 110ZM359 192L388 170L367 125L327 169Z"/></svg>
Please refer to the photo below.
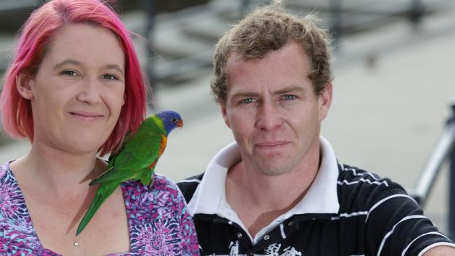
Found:
<svg viewBox="0 0 455 256"><path fill-rule="evenodd" d="M106 171L90 183L101 185L80 221L76 236L120 183L139 180L144 185L151 185L155 165L166 148L167 136L174 128L182 126L179 113L160 111L144 120L133 136L125 136L120 150L109 157Z"/></svg>

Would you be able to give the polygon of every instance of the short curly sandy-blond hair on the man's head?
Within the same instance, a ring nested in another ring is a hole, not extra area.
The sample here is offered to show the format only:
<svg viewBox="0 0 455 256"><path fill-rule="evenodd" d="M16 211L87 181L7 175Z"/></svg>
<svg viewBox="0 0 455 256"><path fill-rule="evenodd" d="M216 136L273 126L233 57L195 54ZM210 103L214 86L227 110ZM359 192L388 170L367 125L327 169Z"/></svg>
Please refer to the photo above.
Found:
<svg viewBox="0 0 455 256"><path fill-rule="evenodd" d="M309 57L309 79L314 92L320 95L332 80L330 69L330 35L316 26L316 15L303 18L286 12L282 1L261 6L249 13L218 41L214 56L214 77L211 90L215 100L225 104L228 73L225 64L235 52L243 61L261 59L291 41L299 43Z"/></svg>

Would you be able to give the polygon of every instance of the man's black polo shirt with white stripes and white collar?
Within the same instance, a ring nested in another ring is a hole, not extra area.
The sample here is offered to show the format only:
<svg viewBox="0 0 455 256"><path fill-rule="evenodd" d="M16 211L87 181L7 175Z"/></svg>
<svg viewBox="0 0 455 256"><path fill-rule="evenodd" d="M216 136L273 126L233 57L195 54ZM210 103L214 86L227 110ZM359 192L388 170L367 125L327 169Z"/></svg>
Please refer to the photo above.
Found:
<svg viewBox="0 0 455 256"><path fill-rule="evenodd" d="M224 196L225 177L240 159L237 144L206 171L178 183L194 217L202 255L422 255L454 243L391 180L338 164L321 137L323 160L307 194L255 237Z"/></svg>

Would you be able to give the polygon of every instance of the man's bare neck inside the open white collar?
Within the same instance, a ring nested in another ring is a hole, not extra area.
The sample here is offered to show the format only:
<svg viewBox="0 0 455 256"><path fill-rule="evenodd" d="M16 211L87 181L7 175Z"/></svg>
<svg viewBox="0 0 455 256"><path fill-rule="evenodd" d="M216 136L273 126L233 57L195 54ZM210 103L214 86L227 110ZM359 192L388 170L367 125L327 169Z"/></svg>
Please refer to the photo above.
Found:
<svg viewBox="0 0 455 256"><path fill-rule="evenodd" d="M239 162L230 168L226 177L226 200L254 237L302 200L316 177L318 166L316 161L306 169L266 176L246 169L244 162Z"/></svg>

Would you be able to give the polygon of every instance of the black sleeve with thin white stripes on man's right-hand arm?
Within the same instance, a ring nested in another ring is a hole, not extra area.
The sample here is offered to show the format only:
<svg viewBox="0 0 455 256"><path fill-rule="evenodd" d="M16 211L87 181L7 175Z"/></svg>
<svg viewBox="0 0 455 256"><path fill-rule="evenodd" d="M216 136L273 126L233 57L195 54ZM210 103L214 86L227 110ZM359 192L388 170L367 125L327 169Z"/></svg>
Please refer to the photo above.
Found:
<svg viewBox="0 0 455 256"><path fill-rule="evenodd" d="M387 179L386 179L387 180ZM377 187L366 219L367 255L418 255L435 243L451 243L400 185Z"/></svg>

